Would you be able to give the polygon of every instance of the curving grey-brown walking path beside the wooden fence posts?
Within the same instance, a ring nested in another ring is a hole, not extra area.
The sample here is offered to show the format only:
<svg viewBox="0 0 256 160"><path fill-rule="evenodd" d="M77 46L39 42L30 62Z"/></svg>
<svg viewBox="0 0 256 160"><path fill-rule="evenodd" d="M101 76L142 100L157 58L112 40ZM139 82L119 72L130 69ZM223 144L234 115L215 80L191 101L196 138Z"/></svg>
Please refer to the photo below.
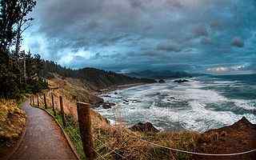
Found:
<svg viewBox="0 0 256 160"><path fill-rule="evenodd" d="M26 134L10 159L77 159L59 126L45 111L23 104Z"/></svg>

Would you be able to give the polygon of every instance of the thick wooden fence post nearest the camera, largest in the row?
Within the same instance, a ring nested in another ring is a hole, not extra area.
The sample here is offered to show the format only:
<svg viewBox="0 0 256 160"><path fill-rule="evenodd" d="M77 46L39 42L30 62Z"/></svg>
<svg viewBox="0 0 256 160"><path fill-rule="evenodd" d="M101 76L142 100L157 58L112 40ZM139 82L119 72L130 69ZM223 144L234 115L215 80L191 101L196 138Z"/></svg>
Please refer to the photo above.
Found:
<svg viewBox="0 0 256 160"><path fill-rule="evenodd" d="M93 160L95 158L94 141L91 130L90 104L77 102L78 108L78 124L82 138L82 147L86 154L86 159Z"/></svg>

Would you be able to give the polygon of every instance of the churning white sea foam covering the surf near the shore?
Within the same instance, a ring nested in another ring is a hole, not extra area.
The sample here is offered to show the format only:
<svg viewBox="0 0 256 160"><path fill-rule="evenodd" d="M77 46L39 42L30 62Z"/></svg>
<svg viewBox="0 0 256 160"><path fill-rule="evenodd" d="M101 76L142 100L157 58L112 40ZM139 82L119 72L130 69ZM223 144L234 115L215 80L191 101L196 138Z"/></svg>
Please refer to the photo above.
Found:
<svg viewBox="0 0 256 160"><path fill-rule="evenodd" d="M255 101L229 99L216 90L206 90L207 86L234 85L235 82L205 83L190 80L183 84L166 82L144 86L134 86L126 90L118 90L118 94L110 93L103 97L105 101L116 102L120 106L119 115L128 124L136 122L153 122L155 126L167 128L171 124L180 124L188 130L205 131L220 126L231 125L242 116L251 122L256 122L255 114L235 114L230 110L211 110L207 105L219 106L222 103L233 102L235 106L245 110L255 110ZM235 85L234 85L235 86ZM127 102L128 101L128 102ZM174 107L175 106L175 107ZM177 107L178 106L178 107ZM115 108L98 109L102 115L112 122L117 117Z"/></svg>

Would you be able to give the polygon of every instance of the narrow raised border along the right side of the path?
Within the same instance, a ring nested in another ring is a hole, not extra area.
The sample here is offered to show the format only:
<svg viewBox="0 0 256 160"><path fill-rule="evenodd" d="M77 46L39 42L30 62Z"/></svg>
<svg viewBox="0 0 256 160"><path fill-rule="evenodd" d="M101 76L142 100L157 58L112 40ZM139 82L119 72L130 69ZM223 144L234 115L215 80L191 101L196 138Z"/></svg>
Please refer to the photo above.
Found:
<svg viewBox="0 0 256 160"><path fill-rule="evenodd" d="M30 105L30 106L32 106L32 105ZM50 115L51 118L54 118L54 116L53 116L52 114L50 114L50 112L49 112L48 110L46 110L46 109L44 109L44 108L41 108L41 107L38 107L38 106L32 106L32 107L35 107L35 108L44 110L47 114ZM64 128L62 127L62 125L61 125L55 118L54 118L54 121L55 121L55 122L58 124L58 126L61 128L62 134L64 134L64 136L65 136L65 138L66 138L66 140L67 140L67 142L68 142L68 144L69 144L69 146L70 146L72 152L73 152L74 155L76 156L76 158L78 158L78 160L81 160L80 156L79 156L78 153L77 153L77 150L75 149L73 143L71 142L70 138L69 138L68 135L66 134L66 132L65 132Z"/></svg>

